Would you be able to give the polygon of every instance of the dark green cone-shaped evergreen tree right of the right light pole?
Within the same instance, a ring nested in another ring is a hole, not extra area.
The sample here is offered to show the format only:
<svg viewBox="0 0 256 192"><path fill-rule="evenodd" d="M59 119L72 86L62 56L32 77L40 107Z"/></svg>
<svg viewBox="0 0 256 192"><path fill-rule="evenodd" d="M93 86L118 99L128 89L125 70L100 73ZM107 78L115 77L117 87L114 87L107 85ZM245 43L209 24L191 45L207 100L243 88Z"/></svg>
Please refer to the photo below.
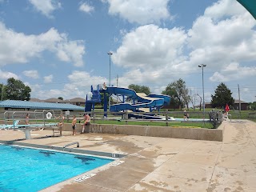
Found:
<svg viewBox="0 0 256 192"><path fill-rule="evenodd" d="M215 94L211 95L210 103L213 108L218 107L224 109L226 104L228 104L229 106L232 106L234 104L234 98L232 98L232 93L223 82L218 85L217 89L215 90Z"/></svg>

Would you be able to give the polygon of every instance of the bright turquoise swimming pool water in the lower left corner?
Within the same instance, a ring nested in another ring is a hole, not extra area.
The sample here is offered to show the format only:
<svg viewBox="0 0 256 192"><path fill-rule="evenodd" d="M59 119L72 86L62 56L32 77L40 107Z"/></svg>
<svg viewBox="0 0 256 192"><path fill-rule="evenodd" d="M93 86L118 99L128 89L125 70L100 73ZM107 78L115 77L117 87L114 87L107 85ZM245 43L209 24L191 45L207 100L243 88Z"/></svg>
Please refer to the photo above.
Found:
<svg viewBox="0 0 256 192"><path fill-rule="evenodd" d="M0 145L0 191L38 191L114 160Z"/></svg>

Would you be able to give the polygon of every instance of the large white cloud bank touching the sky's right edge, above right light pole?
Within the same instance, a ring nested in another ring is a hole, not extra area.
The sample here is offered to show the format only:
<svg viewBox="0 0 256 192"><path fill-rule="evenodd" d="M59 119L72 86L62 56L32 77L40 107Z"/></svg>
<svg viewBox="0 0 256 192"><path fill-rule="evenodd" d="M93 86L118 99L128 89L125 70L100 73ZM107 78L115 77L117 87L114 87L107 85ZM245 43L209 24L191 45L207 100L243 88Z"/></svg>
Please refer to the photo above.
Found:
<svg viewBox="0 0 256 192"><path fill-rule="evenodd" d="M191 66L205 63L211 70L226 70L234 62L239 65L242 62L255 61L255 26L254 18L238 2L220 0L214 3L206 9L204 15L196 19L188 31L188 62ZM240 67L239 70L243 69ZM241 71L233 73L234 76L241 75ZM241 77L245 78L246 75ZM229 81L232 78L216 72L210 80L217 79Z"/></svg>

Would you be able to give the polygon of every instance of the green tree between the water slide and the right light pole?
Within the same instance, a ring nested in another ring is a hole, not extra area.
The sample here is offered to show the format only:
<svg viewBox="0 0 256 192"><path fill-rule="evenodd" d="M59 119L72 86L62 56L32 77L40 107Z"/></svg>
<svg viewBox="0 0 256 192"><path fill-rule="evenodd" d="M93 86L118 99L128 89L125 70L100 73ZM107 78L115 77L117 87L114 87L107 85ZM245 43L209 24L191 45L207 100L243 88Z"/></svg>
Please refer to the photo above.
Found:
<svg viewBox="0 0 256 192"><path fill-rule="evenodd" d="M181 78L178 81L172 82L166 86L166 90L162 91L162 94L170 95L172 98L170 104L178 104L181 108L186 105L189 109L190 95L189 90L186 88L186 82Z"/></svg>

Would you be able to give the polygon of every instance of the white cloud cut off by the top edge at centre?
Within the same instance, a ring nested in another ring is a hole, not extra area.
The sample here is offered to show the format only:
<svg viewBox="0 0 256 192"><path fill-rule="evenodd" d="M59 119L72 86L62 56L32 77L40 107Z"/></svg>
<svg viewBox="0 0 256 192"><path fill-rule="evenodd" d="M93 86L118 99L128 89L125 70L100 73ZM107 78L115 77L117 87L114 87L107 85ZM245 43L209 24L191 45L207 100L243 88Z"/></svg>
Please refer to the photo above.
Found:
<svg viewBox="0 0 256 192"><path fill-rule="evenodd" d="M118 14L129 22L139 24L159 23L163 19L170 19L168 2L170 0L108 0L109 14Z"/></svg>

